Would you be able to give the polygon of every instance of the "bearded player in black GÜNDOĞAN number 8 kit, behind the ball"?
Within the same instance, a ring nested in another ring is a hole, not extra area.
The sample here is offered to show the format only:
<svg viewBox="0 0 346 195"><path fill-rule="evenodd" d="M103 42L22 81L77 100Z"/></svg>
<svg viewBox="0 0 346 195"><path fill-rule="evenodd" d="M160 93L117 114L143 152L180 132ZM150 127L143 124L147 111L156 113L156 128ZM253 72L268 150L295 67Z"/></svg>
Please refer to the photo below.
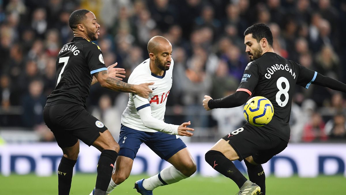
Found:
<svg viewBox="0 0 346 195"><path fill-rule="evenodd" d="M206 153L205 159L215 170L232 179L239 187L239 195L265 195L265 174L261 164L283 151L290 138L290 113L295 84L309 88L310 84L346 92L346 85L274 53L273 35L265 24L255 24L244 32L246 52L250 63L237 91L213 100L204 96L203 107L233 108L243 105L249 96L264 96L274 106L272 120L263 127L246 123L231 129ZM244 160L249 180L232 161Z"/></svg>

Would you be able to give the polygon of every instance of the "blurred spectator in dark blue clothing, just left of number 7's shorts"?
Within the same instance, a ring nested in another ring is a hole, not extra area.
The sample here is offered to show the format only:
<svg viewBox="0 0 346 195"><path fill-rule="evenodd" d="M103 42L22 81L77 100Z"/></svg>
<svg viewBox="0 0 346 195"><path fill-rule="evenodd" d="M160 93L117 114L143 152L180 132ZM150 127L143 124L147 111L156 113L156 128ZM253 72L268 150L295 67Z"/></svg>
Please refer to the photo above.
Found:
<svg viewBox="0 0 346 195"><path fill-rule="evenodd" d="M33 80L29 84L29 93L23 97L22 123L25 127L34 127L43 123L43 107L46 104L46 96L43 95L43 83Z"/></svg>

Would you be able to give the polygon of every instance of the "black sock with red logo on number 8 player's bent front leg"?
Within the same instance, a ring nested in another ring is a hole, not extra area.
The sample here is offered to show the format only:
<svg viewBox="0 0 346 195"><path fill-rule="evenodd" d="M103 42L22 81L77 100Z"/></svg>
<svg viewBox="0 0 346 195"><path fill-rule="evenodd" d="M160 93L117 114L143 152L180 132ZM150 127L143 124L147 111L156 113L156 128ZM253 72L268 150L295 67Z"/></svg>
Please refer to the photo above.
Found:
<svg viewBox="0 0 346 195"><path fill-rule="evenodd" d="M232 179L238 187L242 187L247 179L236 168L232 161L230 161L224 154L216 150L210 150L206 153L206 161L210 166L217 170L222 175Z"/></svg>

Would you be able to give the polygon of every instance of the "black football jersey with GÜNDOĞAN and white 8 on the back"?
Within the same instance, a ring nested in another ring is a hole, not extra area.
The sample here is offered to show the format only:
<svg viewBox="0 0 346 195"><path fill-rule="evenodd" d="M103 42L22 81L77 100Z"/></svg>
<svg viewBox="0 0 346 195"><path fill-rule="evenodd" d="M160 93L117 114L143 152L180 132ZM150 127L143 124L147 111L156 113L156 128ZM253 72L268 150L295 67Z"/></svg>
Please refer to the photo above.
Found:
<svg viewBox="0 0 346 195"><path fill-rule="evenodd" d="M273 119L259 128L288 142L288 123L295 84L309 88L316 75L316 71L286 60L276 53L266 52L248 63L237 91L245 91L252 96L263 96L270 100L274 106Z"/></svg>

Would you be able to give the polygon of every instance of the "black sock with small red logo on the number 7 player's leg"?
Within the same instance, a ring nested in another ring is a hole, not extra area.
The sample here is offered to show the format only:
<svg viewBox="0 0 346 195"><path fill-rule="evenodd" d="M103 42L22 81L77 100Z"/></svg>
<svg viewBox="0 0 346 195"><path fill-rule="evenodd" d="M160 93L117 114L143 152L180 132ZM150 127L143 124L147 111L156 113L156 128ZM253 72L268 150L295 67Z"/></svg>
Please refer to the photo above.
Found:
<svg viewBox="0 0 346 195"><path fill-rule="evenodd" d="M114 150L103 150L97 164L97 179L95 195L106 194L112 171L117 160L118 153Z"/></svg>

